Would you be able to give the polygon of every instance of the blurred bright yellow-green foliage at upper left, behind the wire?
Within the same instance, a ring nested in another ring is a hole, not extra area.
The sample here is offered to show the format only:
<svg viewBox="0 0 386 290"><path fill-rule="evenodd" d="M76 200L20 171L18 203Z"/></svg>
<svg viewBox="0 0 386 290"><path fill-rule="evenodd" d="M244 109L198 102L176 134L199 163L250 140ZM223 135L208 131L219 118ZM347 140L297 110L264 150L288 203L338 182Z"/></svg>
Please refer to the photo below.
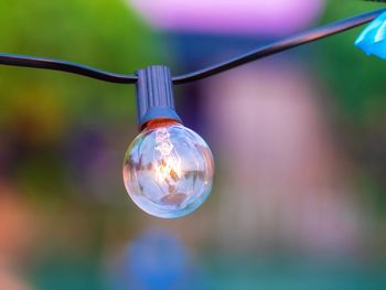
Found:
<svg viewBox="0 0 386 290"><path fill-rule="evenodd" d="M159 60L157 37L122 0L3 0L0 11L3 53L62 58L127 74ZM11 121L20 107L62 128L92 118L119 121L133 112L130 86L4 66L0 75L1 125Z"/></svg>

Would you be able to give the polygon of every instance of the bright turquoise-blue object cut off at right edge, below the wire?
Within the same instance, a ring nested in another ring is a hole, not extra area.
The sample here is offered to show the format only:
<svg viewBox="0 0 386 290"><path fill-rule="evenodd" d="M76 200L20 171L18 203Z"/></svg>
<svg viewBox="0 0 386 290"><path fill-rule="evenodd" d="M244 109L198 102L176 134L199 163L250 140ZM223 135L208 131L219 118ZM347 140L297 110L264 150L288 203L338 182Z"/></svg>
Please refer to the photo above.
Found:
<svg viewBox="0 0 386 290"><path fill-rule="evenodd" d="M367 55L386 58L386 12L374 19L355 41Z"/></svg>

